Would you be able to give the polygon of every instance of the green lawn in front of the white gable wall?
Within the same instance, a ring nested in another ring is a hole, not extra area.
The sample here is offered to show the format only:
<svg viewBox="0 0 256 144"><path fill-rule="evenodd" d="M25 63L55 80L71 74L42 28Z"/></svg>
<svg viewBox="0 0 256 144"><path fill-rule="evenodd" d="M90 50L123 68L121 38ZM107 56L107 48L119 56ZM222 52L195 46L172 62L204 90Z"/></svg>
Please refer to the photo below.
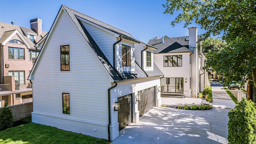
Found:
<svg viewBox="0 0 256 144"><path fill-rule="evenodd" d="M25 120L29 120L26 118ZM31 117L30 117L31 120ZM108 140L28 123L0 131L1 144L109 144Z"/></svg>

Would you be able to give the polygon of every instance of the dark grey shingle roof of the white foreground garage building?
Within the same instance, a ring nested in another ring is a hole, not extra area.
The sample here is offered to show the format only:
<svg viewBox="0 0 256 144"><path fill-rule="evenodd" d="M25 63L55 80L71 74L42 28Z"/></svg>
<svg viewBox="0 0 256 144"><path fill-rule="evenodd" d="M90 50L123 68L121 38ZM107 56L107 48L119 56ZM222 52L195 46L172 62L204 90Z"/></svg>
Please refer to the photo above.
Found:
<svg viewBox="0 0 256 144"><path fill-rule="evenodd" d="M135 71L134 72L118 72L108 61L102 50L99 48L99 46L96 44L92 36L89 34L89 32L86 30L82 22L78 19L78 17L86 19L90 22L93 22L94 24L97 24L99 26L102 26L107 29L111 29L113 32L116 32L118 34L123 34L124 36L129 36L133 38L133 36L127 32L124 32L122 30L119 30L117 28L114 28L113 26L110 26L108 24L105 24L103 22L100 22L94 18L90 18L80 12L77 12L75 10L72 10L71 8L68 8L66 6L63 6L74 24L77 26L78 30L81 32L81 34L84 36L85 40L88 42L92 50L95 52L96 56L99 58L100 62L102 62L103 66L106 68L110 76L113 78L113 80L129 80L134 78L143 78L147 77L145 72L138 66L138 64L135 64ZM151 72L151 76L160 76L163 75L162 72L159 70L159 68L156 66L154 69L154 72ZM160 72L159 72L160 71Z"/></svg>

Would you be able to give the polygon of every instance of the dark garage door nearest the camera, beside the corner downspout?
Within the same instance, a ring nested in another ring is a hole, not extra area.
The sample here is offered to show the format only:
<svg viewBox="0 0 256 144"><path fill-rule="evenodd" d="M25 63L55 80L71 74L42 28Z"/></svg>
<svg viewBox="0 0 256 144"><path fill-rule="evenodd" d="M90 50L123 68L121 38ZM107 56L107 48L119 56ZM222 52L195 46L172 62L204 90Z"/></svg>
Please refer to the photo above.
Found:
<svg viewBox="0 0 256 144"><path fill-rule="evenodd" d="M122 130L132 123L132 94L117 99L120 102L120 110L118 110L119 130Z"/></svg>

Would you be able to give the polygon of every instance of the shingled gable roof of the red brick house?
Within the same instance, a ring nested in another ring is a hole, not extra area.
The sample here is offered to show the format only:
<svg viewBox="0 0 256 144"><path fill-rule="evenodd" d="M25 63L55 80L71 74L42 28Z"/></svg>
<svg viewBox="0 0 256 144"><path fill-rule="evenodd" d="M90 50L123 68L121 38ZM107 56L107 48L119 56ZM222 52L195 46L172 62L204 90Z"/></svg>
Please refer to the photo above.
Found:
<svg viewBox="0 0 256 144"><path fill-rule="evenodd" d="M31 42L31 40L24 34L23 30L26 30L30 33L33 33L36 35L35 38L35 42L38 42L39 40L41 40L41 36L38 36L33 30L29 29L29 28L24 28L24 27L20 27L20 26L16 26L16 25L12 25L12 24L6 24L4 22L0 22L0 38L2 41L6 40L4 38L8 38L8 33L10 31L13 30L18 30L18 32L22 35L22 37L24 38L24 40L26 40L26 42L28 43L28 45L31 48L35 47L34 42ZM7 33L6 33L7 32ZM43 34L46 34L46 32L43 32Z"/></svg>

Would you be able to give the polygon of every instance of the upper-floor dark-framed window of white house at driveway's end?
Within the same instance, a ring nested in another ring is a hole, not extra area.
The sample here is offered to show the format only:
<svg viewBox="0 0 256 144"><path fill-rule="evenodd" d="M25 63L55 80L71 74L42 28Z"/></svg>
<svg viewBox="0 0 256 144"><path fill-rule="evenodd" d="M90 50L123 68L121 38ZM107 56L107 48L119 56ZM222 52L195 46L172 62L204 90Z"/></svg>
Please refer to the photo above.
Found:
<svg viewBox="0 0 256 144"><path fill-rule="evenodd" d="M164 56L164 67L181 67L182 55Z"/></svg>

